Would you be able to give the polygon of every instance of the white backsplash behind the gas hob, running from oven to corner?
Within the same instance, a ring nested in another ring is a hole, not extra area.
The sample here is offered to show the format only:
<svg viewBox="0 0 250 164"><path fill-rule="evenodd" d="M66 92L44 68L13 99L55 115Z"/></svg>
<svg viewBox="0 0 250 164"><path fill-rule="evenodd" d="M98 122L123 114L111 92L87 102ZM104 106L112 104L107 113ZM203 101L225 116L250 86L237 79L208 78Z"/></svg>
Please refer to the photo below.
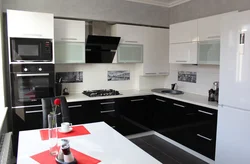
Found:
<svg viewBox="0 0 250 164"><path fill-rule="evenodd" d="M63 83L69 92L96 89L153 89L164 87L166 76L141 76L142 64L57 64L58 75L82 72L83 82Z"/></svg>

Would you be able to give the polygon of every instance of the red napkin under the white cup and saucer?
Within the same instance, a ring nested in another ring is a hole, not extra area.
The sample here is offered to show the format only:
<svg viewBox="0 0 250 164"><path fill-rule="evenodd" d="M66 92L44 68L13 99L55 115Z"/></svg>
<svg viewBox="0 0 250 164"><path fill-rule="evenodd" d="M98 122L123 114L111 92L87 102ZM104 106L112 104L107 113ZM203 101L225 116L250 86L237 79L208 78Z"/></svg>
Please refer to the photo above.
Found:
<svg viewBox="0 0 250 164"><path fill-rule="evenodd" d="M82 125L80 126L72 126L72 131L69 133L60 133L58 132L58 138L66 138L66 137L73 137L73 136L80 136L90 134L90 132ZM40 130L40 135L42 140L48 140L48 129Z"/></svg>

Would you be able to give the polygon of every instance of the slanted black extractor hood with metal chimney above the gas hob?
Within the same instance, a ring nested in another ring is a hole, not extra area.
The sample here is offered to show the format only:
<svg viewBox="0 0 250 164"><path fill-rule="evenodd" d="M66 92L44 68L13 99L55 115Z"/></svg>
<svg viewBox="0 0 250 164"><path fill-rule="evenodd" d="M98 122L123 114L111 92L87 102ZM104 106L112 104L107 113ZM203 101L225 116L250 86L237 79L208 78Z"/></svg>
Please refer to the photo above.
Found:
<svg viewBox="0 0 250 164"><path fill-rule="evenodd" d="M89 25L86 40L86 63L112 63L118 48L120 37L112 37L109 25L92 22Z"/></svg>

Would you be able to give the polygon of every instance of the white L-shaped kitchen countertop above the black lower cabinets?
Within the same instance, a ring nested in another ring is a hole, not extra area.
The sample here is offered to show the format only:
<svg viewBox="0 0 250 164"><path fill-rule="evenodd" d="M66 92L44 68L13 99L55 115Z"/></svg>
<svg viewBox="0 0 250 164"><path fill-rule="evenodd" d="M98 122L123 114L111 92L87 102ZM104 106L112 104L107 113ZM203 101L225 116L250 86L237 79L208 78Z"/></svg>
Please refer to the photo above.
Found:
<svg viewBox="0 0 250 164"><path fill-rule="evenodd" d="M67 102L78 102L78 101L94 101L94 100L105 100L105 99L116 99L116 98L124 98L124 97L134 97L134 96L147 96L147 95L156 95L164 98L169 98L173 100L182 101L185 103L190 103L210 109L218 110L218 104L215 102L209 102L206 96L203 95L197 95L193 93L184 92L183 95L171 95L171 94L161 94L152 92L150 89L148 90L120 90L121 95L115 95L115 96L103 96L103 97L88 97L83 95L82 93L70 93L69 96L66 96ZM180 97L178 97L180 96ZM197 97L199 100L195 100ZM189 100L193 99L193 100Z"/></svg>

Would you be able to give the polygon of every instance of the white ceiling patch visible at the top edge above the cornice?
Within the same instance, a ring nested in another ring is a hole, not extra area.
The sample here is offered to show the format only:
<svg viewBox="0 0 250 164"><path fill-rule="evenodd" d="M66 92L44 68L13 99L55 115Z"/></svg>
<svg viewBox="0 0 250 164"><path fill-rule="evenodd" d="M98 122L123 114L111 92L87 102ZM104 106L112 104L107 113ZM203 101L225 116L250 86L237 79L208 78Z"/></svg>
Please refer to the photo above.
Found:
<svg viewBox="0 0 250 164"><path fill-rule="evenodd" d="M173 7L191 0L127 0L127 1L163 6L163 7Z"/></svg>

